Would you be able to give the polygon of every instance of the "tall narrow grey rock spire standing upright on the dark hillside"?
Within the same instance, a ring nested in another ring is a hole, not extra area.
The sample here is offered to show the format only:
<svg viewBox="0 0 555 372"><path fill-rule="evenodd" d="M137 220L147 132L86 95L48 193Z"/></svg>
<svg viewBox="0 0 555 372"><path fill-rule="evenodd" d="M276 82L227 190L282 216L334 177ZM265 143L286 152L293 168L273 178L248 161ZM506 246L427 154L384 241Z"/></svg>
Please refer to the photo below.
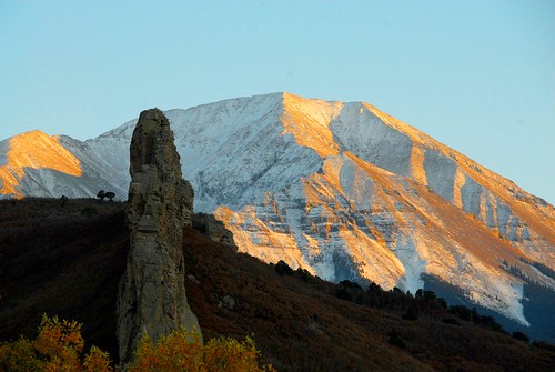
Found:
<svg viewBox="0 0 555 372"><path fill-rule="evenodd" d="M192 225L193 189L181 175L170 123L141 112L131 141L128 223L131 248L118 298L120 361L133 358L143 332L152 340L184 326L200 335L184 286L183 227Z"/></svg>

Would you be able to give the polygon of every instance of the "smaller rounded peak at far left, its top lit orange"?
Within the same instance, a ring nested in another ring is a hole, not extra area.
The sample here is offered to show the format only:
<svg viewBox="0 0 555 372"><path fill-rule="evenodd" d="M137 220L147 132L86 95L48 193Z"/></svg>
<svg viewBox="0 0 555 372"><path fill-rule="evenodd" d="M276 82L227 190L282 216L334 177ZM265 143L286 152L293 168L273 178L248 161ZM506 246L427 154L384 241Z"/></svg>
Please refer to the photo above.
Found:
<svg viewBox="0 0 555 372"><path fill-rule="evenodd" d="M65 135L37 130L0 142L0 198L92 197L100 190L125 198L127 187L112 174L112 165Z"/></svg>

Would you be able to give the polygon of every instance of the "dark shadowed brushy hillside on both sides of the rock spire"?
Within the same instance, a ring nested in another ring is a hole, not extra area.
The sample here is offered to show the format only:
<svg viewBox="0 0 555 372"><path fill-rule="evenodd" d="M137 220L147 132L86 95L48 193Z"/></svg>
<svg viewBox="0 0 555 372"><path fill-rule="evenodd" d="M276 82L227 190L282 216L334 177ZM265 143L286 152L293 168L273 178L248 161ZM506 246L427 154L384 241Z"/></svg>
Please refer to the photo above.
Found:
<svg viewBox="0 0 555 372"><path fill-rule="evenodd" d="M115 359L115 296L129 248L123 204L31 198L0 204L0 340L32 336L47 312L83 322L85 340ZM280 371L555 365L553 346L494 332L487 319L455 316L434 299L325 282L234 253L191 229L183 249L188 298L204 336L251 335Z"/></svg>

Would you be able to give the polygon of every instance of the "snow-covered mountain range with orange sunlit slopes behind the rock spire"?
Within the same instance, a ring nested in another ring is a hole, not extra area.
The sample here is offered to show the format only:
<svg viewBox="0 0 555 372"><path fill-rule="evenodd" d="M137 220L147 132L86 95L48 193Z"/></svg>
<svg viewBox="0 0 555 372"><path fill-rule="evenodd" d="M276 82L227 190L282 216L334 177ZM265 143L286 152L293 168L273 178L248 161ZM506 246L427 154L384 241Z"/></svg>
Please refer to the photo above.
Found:
<svg viewBox="0 0 555 372"><path fill-rule="evenodd" d="M241 251L332 281L441 282L523 325L526 285L555 298L555 209L367 103L274 93L165 114L195 211ZM0 193L125 199L135 122L84 142L0 142Z"/></svg>

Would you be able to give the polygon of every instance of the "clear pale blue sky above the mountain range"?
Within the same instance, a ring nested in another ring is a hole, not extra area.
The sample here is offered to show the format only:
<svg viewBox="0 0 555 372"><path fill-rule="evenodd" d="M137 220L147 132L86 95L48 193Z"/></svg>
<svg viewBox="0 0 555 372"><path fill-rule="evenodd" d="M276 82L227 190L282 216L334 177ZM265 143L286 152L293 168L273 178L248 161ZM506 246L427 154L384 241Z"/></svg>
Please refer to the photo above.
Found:
<svg viewBox="0 0 555 372"><path fill-rule="evenodd" d="M0 0L0 139L287 91L366 101L555 202L555 1Z"/></svg>

